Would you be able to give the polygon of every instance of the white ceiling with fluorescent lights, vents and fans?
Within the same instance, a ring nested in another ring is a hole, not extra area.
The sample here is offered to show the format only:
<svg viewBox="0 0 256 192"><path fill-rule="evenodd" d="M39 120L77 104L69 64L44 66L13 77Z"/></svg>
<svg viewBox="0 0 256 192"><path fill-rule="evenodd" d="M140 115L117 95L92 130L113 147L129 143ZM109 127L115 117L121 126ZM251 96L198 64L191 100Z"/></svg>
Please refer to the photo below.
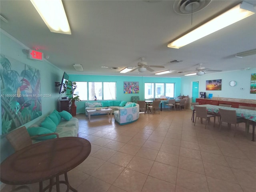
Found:
<svg viewBox="0 0 256 192"><path fill-rule="evenodd" d="M0 27L29 48L39 48L68 74L156 76L154 73L163 70L194 70L199 63L214 70L242 70L256 67L256 55L234 57L256 48L256 14L180 49L167 48L171 40L239 2L213 0L192 15L191 24L191 14L174 12L174 1L63 0L72 31L66 35L50 32L29 0L1 0L0 12L8 23L1 20ZM255 8L255 0L246 2ZM128 66L135 68L140 57L148 65L165 68L120 73ZM168 63L172 60L183 62ZM84 71L77 72L73 64L82 64ZM160 76L183 75L173 72Z"/></svg>

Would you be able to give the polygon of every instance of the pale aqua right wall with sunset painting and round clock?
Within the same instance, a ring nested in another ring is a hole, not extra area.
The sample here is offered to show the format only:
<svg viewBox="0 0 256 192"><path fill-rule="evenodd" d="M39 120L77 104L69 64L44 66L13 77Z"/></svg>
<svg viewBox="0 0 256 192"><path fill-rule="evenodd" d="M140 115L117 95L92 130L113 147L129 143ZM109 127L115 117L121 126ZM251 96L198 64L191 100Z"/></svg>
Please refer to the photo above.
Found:
<svg viewBox="0 0 256 192"><path fill-rule="evenodd" d="M241 67L242 68L242 67ZM256 99L256 94L250 94L251 74L256 73L256 68L250 70L236 70L230 72L218 72L212 74L204 74L202 76L184 76L181 80L181 95L192 95L192 82L199 81L199 92L213 94L213 97L226 97L238 99ZM206 91L206 80L222 79L221 91ZM231 80L237 82L236 86L229 85ZM243 90L241 90L243 88Z"/></svg>

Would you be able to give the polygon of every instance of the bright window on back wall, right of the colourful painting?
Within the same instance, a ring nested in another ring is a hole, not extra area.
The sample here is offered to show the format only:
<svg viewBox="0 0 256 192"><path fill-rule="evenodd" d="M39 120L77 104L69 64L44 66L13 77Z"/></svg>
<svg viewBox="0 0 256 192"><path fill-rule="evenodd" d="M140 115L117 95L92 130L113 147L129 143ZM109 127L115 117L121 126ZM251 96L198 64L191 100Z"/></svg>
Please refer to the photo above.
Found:
<svg viewBox="0 0 256 192"><path fill-rule="evenodd" d="M145 83L145 99L160 98L162 95L166 97L174 97L174 83Z"/></svg>

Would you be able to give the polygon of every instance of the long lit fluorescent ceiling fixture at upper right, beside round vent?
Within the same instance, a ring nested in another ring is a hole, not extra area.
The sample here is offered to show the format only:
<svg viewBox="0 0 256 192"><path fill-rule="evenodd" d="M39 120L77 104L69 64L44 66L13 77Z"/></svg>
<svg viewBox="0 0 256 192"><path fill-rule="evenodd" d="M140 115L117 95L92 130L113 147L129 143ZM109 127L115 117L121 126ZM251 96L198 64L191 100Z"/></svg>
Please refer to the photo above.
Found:
<svg viewBox="0 0 256 192"><path fill-rule="evenodd" d="M216 18L192 30L186 35L171 42L170 44L168 44L167 47L178 49L200 38L203 38L204 36L212 34L213 32L216 32L226 26L229 26L235 22L238 22L248 16L251 16L254 13L255 13L255 10L252 4L242 2L241 4L234 6L230 10L224 12L223 14L217 16Z"/></svg>

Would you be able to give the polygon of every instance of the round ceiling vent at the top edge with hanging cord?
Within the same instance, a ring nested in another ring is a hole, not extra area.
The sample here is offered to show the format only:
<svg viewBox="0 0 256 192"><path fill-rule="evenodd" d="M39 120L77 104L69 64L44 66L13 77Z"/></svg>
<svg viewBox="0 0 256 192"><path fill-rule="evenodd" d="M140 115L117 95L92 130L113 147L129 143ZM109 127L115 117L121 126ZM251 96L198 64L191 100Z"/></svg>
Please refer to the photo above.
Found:
<svg viewBox="0 0 256 192"><path fill-rule="evenodd" d="M181 15L188 15L198 12L208 6L212 0L176 0L173 10Z"/></svg>

